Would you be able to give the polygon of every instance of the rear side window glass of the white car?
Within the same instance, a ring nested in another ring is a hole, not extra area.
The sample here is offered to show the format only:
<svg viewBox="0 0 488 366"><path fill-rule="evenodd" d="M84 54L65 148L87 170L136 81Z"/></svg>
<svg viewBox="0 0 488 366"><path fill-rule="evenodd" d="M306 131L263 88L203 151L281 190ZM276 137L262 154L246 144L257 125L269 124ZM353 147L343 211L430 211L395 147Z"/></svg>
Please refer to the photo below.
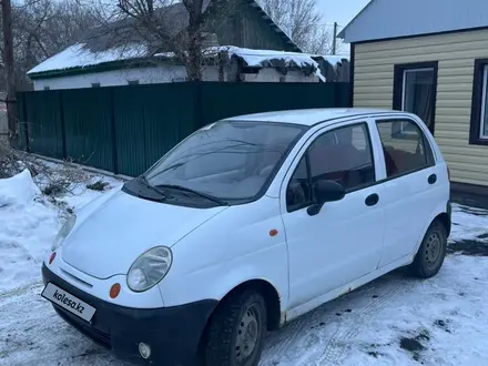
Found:
<svg viewBox="0 0 488 366"><path fill-rule="evenodd" d="M387 177L413 173L434 165L431 148L420 128L410 120L377 122Z"/></svg>

